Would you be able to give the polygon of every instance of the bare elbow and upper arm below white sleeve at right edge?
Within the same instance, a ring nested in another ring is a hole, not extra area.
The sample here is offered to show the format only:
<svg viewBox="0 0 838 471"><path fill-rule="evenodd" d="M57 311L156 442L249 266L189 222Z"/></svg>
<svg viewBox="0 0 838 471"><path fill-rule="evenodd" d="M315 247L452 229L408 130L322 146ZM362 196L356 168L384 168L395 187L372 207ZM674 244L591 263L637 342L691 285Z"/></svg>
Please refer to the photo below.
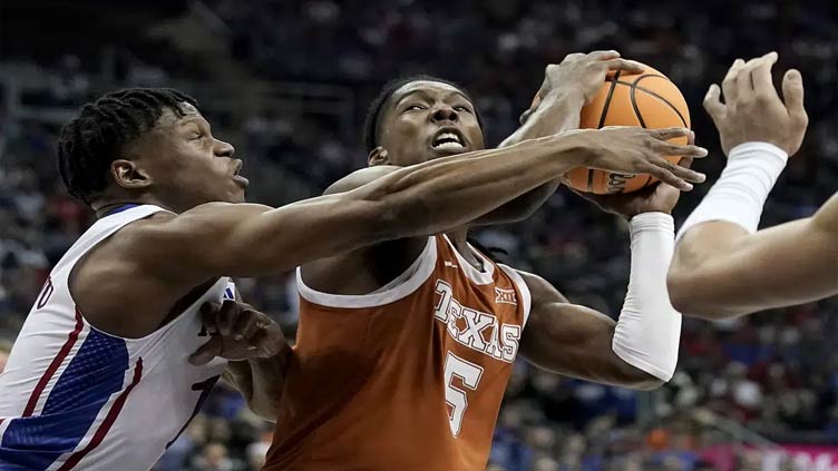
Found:
<svg viewBox="0 0 838 471"><path fill-rule="evenodd" d="M679 311L710 320L838 295L838 194L812 217L754 234L723 220L695 226L669 285Z"/></svg>

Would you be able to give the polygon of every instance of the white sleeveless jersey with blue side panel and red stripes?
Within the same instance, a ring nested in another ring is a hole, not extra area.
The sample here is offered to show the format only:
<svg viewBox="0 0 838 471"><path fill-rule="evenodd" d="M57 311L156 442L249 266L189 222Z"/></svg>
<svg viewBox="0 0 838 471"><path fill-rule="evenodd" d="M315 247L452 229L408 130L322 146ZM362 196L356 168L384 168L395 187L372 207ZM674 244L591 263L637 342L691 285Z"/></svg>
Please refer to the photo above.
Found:
<svg viewBox="0 0 838 471"><path fill-rule="evenodd" d="M103 217L52 269L0 374L0 471L148 470L201 409L226 362L193 366L188 356L208 340L201 305L234 297L228 278L143 338L91 326L68 288L85 253L160 210Z"/></svg>

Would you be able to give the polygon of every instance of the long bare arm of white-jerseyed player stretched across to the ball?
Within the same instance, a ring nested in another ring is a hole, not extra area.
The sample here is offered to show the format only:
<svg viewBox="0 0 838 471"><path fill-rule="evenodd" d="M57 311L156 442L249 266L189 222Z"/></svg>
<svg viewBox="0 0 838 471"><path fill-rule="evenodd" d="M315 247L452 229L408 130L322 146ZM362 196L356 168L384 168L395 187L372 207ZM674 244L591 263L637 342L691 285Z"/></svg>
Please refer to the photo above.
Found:
<svg viewBox="0 0 838 471"><path fill-rule="evenodd" d="M216 276L281 273L383 241L461 226L579 165L651 173L689 189L683 178L703 176L663 158L707 154L666 141L686 133L581 130L400 168L351 192L277 209L207 204L163 222L142 222L127 245L142 271L186 286Z"/></svg>

